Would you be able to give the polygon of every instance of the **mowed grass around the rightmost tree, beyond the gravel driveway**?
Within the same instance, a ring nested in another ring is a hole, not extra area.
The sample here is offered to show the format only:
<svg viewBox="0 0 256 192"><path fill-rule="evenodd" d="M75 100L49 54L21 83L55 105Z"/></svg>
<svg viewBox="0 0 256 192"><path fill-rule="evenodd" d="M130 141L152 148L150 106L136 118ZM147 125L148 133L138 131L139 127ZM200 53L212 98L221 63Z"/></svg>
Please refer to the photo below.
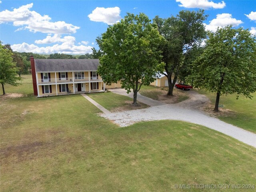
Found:
<svg viewBox="0 0 256 192"><path fill-rule="evenodd" d="M204 90L197 90L198 93L206 95L210 98L212 104L215 104L216 94L209 93ZM250 132L256 133L256 92L252 94L252 99L240 95L236 99L236 95L220 96L220 108L232 110L225 116L218 116L224 122L233 124ZM212 109L213 110L213 109Z"/></svg>

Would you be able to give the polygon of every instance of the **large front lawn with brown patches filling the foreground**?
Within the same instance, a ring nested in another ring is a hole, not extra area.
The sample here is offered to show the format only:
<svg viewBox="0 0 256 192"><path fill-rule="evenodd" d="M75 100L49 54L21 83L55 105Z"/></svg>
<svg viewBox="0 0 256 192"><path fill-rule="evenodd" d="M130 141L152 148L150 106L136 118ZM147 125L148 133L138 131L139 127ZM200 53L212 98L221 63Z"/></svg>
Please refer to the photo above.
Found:
<svg viewBox="0 0 256 192"><path fill-rule="evenodd" d="M80 94L1 100L1 191L180 192L174 184L255 184L251 146L180 121L121 128L99 112Z"/></svg>

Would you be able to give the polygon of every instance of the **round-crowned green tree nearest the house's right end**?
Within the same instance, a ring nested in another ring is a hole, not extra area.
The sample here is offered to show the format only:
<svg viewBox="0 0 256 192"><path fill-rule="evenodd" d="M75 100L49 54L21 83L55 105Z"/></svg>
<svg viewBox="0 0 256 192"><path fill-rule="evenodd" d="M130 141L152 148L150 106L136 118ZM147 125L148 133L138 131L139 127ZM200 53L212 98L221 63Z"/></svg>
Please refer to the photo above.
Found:
<svg viewBox="0 0 256 192"><path fill-rule="evenodd" d="M161 52L157 50L162 37L157 26L145 14L128 13L96 41L102 52L98 73L107 84L121 80L127 93L132 89L133 104L137 105L142 84L149 85L153 76L163 70Z"/></svg>

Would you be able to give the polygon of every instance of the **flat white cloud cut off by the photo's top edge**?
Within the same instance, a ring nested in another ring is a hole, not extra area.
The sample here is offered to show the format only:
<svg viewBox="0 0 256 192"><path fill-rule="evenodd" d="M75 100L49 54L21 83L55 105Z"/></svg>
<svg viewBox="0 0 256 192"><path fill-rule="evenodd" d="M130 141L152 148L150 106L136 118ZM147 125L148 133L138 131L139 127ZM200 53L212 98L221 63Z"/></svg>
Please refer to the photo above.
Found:
<svg viewBox="0 0 256 192"><path fill-rule="evenodd" d="M214 3L209 0L176 0L176 2L180 2L181 4L179 4L179 6L185 8L222 9L226 6L224 1Z"/></svg>

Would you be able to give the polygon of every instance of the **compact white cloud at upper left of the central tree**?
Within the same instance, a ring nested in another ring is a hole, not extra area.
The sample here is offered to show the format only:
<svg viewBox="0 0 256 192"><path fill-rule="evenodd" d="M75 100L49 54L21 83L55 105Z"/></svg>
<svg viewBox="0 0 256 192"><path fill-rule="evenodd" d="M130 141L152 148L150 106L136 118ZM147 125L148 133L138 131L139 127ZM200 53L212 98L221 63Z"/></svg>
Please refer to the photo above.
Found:
<svg viewBox="0 0 256 192"><path fill-rule="evenodd" d="M120 21L120 12L121 10L119 7L96 7L88 17L91 21L104 22L108 25L112 25Z"/></svg>

